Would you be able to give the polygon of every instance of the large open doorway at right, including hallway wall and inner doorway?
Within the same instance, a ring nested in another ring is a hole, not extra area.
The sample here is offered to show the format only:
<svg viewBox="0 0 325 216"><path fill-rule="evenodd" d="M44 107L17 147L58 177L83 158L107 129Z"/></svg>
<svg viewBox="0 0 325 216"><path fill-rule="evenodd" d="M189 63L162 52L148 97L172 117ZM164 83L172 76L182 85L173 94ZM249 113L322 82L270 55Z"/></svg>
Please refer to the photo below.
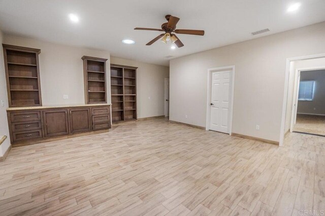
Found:
<svg viewBox="0 0 325 216"><path fill-rule="evenodd" d="M325 54L287 59L280 146L288 133L325 136Z"/></svg>

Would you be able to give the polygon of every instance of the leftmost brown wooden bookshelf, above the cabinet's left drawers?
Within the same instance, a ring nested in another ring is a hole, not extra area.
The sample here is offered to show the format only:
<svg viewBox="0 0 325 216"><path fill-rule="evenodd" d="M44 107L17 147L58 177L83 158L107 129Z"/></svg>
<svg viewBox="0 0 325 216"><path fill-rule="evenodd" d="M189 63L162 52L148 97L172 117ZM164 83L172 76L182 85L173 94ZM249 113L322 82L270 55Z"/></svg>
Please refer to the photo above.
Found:
<svg viewBox="0 0 325 216"><path fill-rule="evenodd" d="M41 50L3 44L9 107L41 106Z"/></svg>

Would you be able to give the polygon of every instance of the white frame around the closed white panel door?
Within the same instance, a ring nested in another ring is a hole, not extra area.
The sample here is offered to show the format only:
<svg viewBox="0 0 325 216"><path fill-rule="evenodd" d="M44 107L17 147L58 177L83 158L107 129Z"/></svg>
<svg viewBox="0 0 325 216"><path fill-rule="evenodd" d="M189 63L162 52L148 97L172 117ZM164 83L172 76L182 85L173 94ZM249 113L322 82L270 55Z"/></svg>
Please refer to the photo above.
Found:
<svg viewBox="0 0 325 216"><path fill-rule="evenodd" d="M210 119L211 119L211 80L212 80L212 72L218 72L218 71L232 71L232 80L231 80L231 100L230 100L230 116L229 116L229 135L232 135L233 133L233 111L234 111L234 92L235 92L235 65L231 66L225 66L225 67L215 67L215 68L209 68L208 69L208 79L207 79L207 111L206 111L206 131L210 130Z"/></svg>

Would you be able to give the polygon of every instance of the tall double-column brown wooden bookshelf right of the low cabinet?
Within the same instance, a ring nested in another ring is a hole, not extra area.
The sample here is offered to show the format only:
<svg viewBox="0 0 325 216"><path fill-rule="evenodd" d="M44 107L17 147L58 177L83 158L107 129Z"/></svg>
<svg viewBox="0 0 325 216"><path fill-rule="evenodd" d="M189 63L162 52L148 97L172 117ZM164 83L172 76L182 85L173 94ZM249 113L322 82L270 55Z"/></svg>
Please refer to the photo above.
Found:
<svg viewBox="0 0 325 216"><path fill-rule="evenodd" d="M137 120L137 67L111 64L112 122Z"/></svg>

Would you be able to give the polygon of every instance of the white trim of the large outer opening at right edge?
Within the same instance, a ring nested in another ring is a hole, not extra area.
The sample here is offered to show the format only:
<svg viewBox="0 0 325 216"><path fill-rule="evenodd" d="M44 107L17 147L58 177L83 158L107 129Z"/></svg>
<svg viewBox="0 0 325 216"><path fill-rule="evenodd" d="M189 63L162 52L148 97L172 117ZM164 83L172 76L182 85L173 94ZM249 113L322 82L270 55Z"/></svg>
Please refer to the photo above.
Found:
<svg viewBox="0 0 325 216"><path fill-rule="evenodd" d="M287 109L286 104L287 104L288 92L289 92L288 90L289 90L290 62L299 61L299 60L308 60L308 59L318 59L318 58L324 58L324 57L325 57L325 53L286 59L279 146L283 146L284 136L285 136L285 131L284 131L285 130L285 115L286 115L286 109Z"/></svg>

